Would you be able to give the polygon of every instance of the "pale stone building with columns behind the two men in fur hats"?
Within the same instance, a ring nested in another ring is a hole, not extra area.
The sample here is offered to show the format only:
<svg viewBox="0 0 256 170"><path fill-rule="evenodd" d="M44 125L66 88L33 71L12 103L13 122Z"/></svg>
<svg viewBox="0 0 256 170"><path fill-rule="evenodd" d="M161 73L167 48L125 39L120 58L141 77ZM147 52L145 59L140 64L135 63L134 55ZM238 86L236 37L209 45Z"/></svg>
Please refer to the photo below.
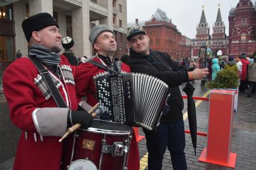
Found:
<svg viewBox="0 0 256 170"><path fill-rule="evenodd" d="M75 42L76 57L92 56L90 29L105 24L114 29L117 56L126 50L126 0L6 0L0 2L0 75L16 59L16 52L28 53L22 21L34 14L47 12L57 20L60 34Z"/></svg>

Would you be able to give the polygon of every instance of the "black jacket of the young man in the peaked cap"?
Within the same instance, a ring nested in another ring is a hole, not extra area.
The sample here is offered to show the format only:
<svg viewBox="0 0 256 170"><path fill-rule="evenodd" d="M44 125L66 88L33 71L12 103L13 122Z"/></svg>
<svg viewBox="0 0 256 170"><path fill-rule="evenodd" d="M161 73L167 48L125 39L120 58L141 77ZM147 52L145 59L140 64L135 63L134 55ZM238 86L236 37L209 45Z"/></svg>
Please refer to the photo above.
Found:
<svg viewBox="0 0 256 170"><path fill-rule="evenodd" d="M163 80L169 86L170 97L167 104L169 112L161 119L161 123L170 123L178 120L183 113L184 103L179 86L189 81L188 68L172 61L167 53L149 49L150 55L136 53L130 49L130 58L126 64L130 65L134 73L150 74Z"/></svg>

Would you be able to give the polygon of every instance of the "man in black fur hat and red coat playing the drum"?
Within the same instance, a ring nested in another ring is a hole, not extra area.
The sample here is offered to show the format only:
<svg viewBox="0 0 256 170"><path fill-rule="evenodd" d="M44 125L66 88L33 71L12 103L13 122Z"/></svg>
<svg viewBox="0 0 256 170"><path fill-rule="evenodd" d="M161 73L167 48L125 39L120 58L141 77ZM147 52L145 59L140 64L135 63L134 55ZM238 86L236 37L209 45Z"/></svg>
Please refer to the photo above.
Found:
<svg viewBox="0 0 256 170"><path fill-rule="evenodd" d="M4 94L13 124L22 130L13 169L60 169L63 143L58 142L67 127L80 123L87 128L92 116L78 108L72 70L60 56L58 24L48 13L23 20L22 28L30 43L29 57L14 61L4 72ZM42 73L30 58L39 61L63 98L58 108ZM66 106L65 106L66 105Z"/></svg>

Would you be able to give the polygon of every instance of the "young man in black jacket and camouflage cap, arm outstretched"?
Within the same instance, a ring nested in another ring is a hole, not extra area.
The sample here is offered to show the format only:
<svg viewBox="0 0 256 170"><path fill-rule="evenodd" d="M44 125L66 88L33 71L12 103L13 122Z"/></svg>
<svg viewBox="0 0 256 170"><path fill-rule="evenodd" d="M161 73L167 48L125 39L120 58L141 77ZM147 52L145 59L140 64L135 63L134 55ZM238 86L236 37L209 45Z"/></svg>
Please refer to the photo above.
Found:
<svg viewBox="0 0 256 170"><path fill-rule="evenodd" d="M163 155L168 147L173 169L187 169L182 113L184 103L179 86L207 76L208 68L188 68L172 61L167 53L149 49L149 37L142 26L130 28L127 40L130 43L130 58L126 64L130 65L131 71L158 77L167 83L170 92L167 101L170 109L161 118L160 125L153 131L143 129L148 149L148 168L161 169Z"/></svg>

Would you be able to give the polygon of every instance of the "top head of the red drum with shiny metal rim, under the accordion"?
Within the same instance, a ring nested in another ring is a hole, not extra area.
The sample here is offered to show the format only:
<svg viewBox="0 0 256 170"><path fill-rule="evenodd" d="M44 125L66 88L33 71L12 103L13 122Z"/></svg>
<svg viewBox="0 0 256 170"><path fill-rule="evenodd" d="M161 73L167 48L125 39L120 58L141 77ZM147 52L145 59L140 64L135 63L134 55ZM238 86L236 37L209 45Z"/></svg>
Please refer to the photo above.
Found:
<svg viewBox="0 0 256 170"><path fill-rule="evenodd" d="M93 120L91 126L87 129L89 132L105 133L109 135L130 135L131 130L131 127L124 124L96 119Z"/></svg>

